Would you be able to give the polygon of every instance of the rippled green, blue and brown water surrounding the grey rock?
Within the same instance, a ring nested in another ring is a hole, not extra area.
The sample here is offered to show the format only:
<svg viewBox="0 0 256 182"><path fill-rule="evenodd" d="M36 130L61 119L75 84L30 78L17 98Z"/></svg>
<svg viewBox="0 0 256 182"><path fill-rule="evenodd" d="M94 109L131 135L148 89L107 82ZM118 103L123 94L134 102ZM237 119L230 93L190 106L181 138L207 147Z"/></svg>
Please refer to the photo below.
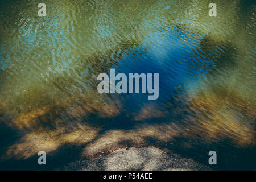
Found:
<svg viewBox="0 0 256 182"><path fill-rule="evenodd" d="M1 168L154 145L255 169L255 3L0 3ZM97 75L159 73L159 98L97 93ZM65 159L65 160L63 160ZM8 164L8 165L7 165Z"/></svg>

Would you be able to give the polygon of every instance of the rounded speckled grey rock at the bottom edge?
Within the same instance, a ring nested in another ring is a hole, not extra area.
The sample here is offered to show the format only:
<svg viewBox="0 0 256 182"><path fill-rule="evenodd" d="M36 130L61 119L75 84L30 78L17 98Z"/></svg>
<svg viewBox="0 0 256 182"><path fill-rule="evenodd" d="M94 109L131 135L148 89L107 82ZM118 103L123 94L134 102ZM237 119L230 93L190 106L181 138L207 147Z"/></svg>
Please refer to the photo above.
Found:
<svg viewBox="0 0 256 182"><path fill-rule="evenodd" d="M210 170L208 166L156 147L122 148L93 159L80 159L58 170Z"/></svg>

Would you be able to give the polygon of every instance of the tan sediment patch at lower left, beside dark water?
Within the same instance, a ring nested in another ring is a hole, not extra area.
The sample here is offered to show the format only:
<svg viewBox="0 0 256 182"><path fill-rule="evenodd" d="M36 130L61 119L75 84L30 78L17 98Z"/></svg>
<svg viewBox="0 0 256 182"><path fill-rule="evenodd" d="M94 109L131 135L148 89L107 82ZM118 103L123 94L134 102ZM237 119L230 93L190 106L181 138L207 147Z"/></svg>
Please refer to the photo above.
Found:
<svg viewBox="0 0 256 182"><path fill-rule="evenodd" d="M7 149L6 155L2 159L27 159L39 151L46 153L55 151L66 143L84 144L94 139L98 133L96 129L90 126L81 126L70 133L64 130L61 128L55 131L33 131L25 134L17 143Z"/></svg>

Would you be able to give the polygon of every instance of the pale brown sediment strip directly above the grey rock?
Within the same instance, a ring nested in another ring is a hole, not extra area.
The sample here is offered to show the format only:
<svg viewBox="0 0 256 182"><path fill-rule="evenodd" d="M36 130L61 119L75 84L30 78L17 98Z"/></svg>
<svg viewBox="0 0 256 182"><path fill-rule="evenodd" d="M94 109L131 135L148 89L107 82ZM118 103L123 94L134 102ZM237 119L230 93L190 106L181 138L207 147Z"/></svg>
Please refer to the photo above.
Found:
<svg viewBox="0 0 256 182"><path fill-rule="evenodd" d="M160 141L169 141L179 134L179 127L174 123L169 125L142 125L132 130L109 130L96 141L86 146L83 155L87 158L92 158L101 152L110 152L118 148L146 146L149 143L147 141L148 137ZM130 144L127 145L126 142Z"/></svg>

